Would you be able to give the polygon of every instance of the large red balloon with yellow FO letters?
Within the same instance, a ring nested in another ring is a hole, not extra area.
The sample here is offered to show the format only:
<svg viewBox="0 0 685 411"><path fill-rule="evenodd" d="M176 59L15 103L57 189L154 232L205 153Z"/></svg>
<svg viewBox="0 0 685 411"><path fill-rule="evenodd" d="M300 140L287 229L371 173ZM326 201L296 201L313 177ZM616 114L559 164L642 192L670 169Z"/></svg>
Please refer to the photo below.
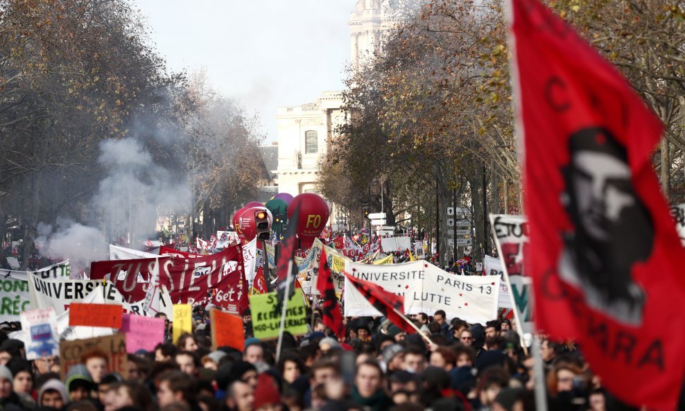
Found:
<svg viewBox="0 0 685 411"><path fill-rule="evenodd" d="M300 237L302 249L310 248L314 238L318 237L326 227L331 211L326 201L320 195L314 193L302 193L293 198L288 205L288 221L295 209L300 209L297 216L297 236Z"/></svg>

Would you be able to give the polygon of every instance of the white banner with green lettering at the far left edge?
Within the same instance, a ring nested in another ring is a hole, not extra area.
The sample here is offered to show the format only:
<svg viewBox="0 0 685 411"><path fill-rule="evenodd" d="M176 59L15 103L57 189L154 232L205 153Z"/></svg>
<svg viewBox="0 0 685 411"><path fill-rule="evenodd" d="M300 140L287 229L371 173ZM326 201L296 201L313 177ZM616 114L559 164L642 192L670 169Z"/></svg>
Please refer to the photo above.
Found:
<svg viewBox="0 0 685 411"><path fill-rule="evenodd" d="M0 322L19 321L22 311L31 306L28 292L28 271L0 270ZM69 261L33 271L44 279L69 278Z"/></svg>

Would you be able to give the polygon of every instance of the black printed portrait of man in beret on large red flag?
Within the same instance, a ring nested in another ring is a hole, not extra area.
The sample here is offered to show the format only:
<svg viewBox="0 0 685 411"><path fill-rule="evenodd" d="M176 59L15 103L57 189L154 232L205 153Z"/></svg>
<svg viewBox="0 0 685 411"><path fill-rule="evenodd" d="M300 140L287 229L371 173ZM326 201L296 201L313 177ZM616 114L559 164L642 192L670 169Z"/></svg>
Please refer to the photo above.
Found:
<svg viewBox="0 0 685 411"><path fill-rule="evenodd" d="M625 147L605 128L569 138L561 201L573 229L562 233L562 281L588 306L624 324L640 324L645 292L632 280L635 264L652 254L654 225L631 181Z"/></svg>

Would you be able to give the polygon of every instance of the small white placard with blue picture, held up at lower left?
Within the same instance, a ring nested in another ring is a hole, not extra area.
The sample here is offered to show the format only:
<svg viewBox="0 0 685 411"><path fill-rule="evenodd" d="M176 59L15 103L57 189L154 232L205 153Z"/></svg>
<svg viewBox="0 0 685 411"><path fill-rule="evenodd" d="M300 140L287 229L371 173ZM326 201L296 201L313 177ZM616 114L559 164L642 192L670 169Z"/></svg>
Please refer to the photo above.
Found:
<svg viewBox="0 0 685 411"><path fill-rule="evenodd" d="M24 311L19 317L27 360L60 354L57 317L53 308Z"/></svg>

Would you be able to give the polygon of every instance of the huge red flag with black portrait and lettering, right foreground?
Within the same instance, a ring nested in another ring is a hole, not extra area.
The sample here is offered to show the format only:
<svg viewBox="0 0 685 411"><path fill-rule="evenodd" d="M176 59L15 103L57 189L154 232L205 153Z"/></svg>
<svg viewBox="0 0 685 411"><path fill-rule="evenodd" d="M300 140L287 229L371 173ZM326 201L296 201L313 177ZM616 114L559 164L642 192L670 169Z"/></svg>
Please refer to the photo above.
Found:
<svg viewBox="0 0 685 411"><path fill-rule="evenodd" d="M685 254L652 170L661 123L564 21L512 3L537 326L577 340L623 401L673 410Z"/></svg>

